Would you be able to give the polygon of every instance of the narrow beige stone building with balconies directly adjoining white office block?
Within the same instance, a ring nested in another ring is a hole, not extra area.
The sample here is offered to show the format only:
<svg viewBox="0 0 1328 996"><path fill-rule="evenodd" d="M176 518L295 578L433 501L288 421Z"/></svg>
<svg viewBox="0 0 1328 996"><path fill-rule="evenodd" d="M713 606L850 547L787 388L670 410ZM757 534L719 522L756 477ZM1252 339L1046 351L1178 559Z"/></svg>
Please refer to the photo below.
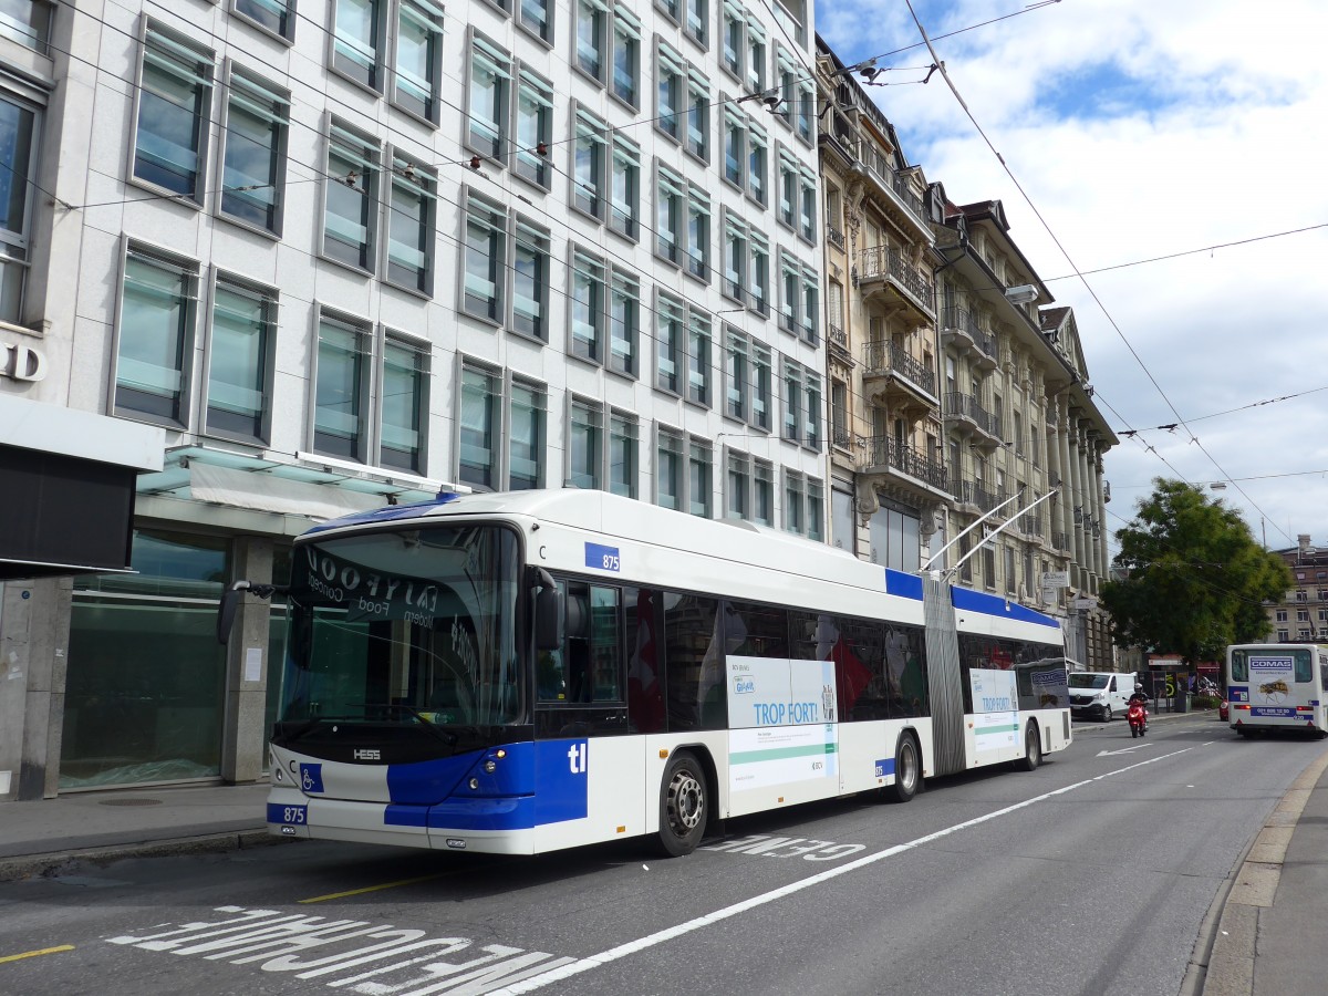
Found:
<svg viewBox="0 0 1328 996"><path fill-rule="evenodd" d="M831 540L916 571L951 498L927 181L854 72L817 54Z"/></svg>

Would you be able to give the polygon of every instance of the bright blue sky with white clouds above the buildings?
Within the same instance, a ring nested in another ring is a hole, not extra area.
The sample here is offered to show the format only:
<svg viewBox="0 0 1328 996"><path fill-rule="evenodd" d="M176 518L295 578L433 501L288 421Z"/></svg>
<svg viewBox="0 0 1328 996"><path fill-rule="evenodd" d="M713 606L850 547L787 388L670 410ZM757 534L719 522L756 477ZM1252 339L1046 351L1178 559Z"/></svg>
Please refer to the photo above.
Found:
<svg viewBox="0 0 1328 996"><path fill-rule="evenodd" d="M912 5L976 126L940 74L918 82L906 0L818 0L817 29L898 66L867 89L907 161L956 203L1000 199L1074 308L1121 436L1112 531L1165 475L1226 482L1270 547L1328 544L1328 4Z"/></svg>

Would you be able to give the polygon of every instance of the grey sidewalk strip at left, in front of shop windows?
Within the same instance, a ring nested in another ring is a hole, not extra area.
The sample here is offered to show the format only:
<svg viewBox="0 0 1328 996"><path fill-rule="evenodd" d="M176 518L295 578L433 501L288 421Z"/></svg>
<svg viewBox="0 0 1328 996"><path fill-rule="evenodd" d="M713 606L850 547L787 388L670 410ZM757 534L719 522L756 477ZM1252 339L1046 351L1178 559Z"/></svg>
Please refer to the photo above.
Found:
<svg viewBox="0 0 1328 996"><path fill-rule="evenodd" d="M266 781L80 791L0 802L0 882L74 859L235 850L268 837Z"/></svg>

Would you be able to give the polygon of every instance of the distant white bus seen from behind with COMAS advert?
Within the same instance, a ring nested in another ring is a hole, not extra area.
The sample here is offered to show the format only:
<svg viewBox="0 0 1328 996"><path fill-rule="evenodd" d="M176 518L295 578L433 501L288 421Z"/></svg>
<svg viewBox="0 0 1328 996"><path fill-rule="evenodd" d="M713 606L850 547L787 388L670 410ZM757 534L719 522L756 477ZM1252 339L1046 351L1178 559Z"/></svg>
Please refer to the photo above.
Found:
<svg viewBox="0 0 1328 996"><path fill-rule="evenodd" d="M1328 647L1251 643L1227 647L1231 729L1299 729L1328 736Z"/></svg>

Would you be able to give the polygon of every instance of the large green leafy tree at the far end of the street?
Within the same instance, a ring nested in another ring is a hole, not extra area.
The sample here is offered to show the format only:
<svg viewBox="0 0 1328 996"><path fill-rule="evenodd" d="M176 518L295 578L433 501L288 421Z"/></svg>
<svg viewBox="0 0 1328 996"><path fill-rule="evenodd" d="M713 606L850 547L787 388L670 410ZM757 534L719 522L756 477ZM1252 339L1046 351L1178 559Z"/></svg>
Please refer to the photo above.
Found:
<svg viewBox="0 0 1328 996"><path fill-rule="evenodd" d="M1157 478L1153 487L1116 534L1120 580L1102 588L1114 641L1194 665L1220 660L1227 644L1266 639L1263 603L1292 586L1291 571L1222 499L1183 481Z"/></svg>

